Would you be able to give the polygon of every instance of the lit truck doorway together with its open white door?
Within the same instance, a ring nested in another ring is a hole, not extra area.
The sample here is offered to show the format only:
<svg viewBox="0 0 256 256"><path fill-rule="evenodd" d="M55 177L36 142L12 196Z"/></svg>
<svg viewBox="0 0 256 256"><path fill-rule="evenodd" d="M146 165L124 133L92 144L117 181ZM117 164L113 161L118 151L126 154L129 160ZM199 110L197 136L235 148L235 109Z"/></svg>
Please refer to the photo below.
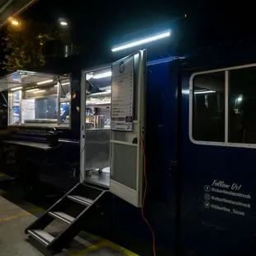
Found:
<svg viewBox="0 0 256 256"><path fill-rule="evenodd" d="M145 56L83 70L81 81L80 182L109 187L134 206L142 203Z"/></svg>

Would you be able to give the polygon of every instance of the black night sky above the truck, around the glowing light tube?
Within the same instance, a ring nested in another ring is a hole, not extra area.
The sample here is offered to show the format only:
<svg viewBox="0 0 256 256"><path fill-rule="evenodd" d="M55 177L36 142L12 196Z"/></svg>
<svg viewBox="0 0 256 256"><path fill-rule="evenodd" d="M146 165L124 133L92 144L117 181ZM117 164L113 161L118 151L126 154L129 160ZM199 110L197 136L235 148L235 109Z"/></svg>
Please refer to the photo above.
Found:
<svg viewBox="0 0 256 256"><path fill-rule="evenodd" d="M83 45L83 55L73 58L79 69L119 59L126 53L113 55L113 46L166 29L173 34L168 42L158 42L160 50L166 48L161 53L164 56L189 55L241 40L256 41L254 2L249 1L39 0L21 15L56 28L60 27L60 17L68 21L69 26L62 29L69 30L73 43ZM1 48L0 60L3 56ZM73 64L69 58L69 66ZM49 71L53 66L49 65Z"/></svg>

